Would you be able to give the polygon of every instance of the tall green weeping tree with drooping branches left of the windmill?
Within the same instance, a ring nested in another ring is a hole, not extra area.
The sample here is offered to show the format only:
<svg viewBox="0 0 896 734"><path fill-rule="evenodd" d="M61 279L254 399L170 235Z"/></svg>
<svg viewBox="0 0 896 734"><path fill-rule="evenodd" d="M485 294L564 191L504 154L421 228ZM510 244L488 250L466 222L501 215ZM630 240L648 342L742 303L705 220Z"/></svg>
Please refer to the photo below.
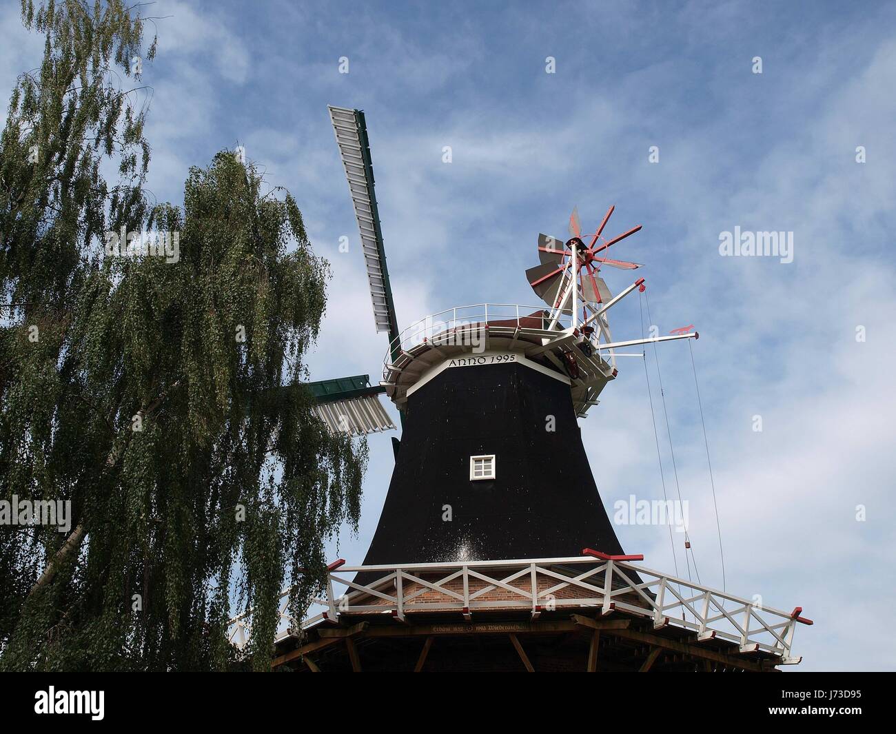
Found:
<svg viewBox="0 0 896 734"><path fill-rule="evenodd" d="M358 523L366 445L301 385L327 263L228 151L182 207L148 201L145 19L22 18L46 44L0 137L0 499L70 503L71 524L0 526L0 668L228 669L248 604L239 664L267 669L281 588L300 615L323 543Z"/></svg>

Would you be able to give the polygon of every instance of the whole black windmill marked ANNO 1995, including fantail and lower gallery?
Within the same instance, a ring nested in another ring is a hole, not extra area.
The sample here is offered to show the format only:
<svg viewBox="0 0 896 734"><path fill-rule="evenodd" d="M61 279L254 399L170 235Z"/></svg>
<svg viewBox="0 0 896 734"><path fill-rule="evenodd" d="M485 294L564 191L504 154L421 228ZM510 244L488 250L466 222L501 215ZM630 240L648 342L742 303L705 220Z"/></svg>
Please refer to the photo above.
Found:
<svg viewBox="0 0 896 734"><path fill-rule="evenodd" d="M607 251L641 227L604 237L611 206L583 237L573 210L570 237L539 235L540 263L526 272L547 308L450 307L400 332L364 114L331 107L330 116L376 330L389 334L379 388L401 410L403 433L392 439L395 466L364 563L330 564L313 617L293 619L283 602L275 666L760 671L799 662L794 630L812 624L801 608L759 607L636 565L643 557L625 554L599 496L578 419L615 379L616 350L697 338L685 327L613 341L607 313L643 292L644 279L613 295L600 273L640 267ZM231 639L249 617L232 620Z"/></svg>

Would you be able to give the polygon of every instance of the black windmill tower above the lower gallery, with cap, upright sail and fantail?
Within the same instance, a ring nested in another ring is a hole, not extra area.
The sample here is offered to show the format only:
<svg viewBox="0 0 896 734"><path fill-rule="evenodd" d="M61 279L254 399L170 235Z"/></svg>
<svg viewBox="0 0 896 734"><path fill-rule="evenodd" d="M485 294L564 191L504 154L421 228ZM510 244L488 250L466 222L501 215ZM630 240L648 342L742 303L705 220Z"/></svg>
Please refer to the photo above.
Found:
<svg viewBox="0 0 896 734"><path fill-rule="evenodd" d="M366 261L377 331L389 333L381 386L401 441L365 566L623 553L598 494L577 418L616 376L600 267L635 269L603 237L538 239L526 273L547 308L452 307L401 333L383 250L364 113L330 108ZM577 263L577 264L576 264ZM362 575L362 579L365 576Z"/></svg>

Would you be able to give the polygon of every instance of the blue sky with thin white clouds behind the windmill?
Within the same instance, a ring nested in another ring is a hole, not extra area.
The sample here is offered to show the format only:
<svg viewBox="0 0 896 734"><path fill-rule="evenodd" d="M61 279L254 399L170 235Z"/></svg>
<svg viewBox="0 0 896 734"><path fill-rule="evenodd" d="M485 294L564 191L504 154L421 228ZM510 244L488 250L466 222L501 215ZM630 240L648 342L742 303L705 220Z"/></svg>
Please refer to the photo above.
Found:
<svg viewBox="0 0 896 734"><path fill-rule="evenodd" d="M18 5L0 5L4 94L39 63ZM610 204L614 234L642 224L615 256L645 263L659 333L701 334L728 591L814 619L788 671L896 669L896 5L158 0L144 14L159 32L143 67L148 186L182 203L191 165L243 145L295 195L332 264L314 379L378 381L387 349L328 104L366 112L401 328L454 306L537 303L524 271L538 232L564 237L575 205L586 230ZM792 262L720 254L735 228L792 233ZM605 271L615 292L631 275ZM616 339L640 335L636 297L611 325ZM688 344L658 354L668 433L652 350L647 364L667 489L670 435L694 559L720 587ZM618 498L662 497L641 359L620 359L581 423L611 516ZM358 534L332 543L353 564L392 471L390 435L368 443ZM616 531L644 565L684 574L666 528Z"/></svg>

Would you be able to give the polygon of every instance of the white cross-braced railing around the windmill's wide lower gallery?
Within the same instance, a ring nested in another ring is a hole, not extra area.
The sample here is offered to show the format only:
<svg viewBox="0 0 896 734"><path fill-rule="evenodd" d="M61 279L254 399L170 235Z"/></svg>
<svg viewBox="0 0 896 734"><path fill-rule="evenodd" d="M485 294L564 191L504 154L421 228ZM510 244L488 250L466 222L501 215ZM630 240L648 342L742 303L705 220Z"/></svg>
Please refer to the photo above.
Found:
<svg viewBox="0 0 896 734"><path fill-rule="evenodd" d="M589 555L500 561L329 567L326 592L314 602L323 610L301 625L289 617L289 590L280 597L280 637L340 616L383 614L402 622L418 611L456 612L470 619L495 609L544 611L593 608L601 615L625 611L652 620L656 629L689 630L698 642L735 643L739 652L768 652L780 664L802 660L791 653L797 624L811 625L792 612L764 606L718 589L676 578L596 551ZM356 583L356 574L373 578ZM344 590L337 592L336 590ZM496 596L500 595L500 598ZM230 622L229 639L246 645L251 610Z"/></svg>

